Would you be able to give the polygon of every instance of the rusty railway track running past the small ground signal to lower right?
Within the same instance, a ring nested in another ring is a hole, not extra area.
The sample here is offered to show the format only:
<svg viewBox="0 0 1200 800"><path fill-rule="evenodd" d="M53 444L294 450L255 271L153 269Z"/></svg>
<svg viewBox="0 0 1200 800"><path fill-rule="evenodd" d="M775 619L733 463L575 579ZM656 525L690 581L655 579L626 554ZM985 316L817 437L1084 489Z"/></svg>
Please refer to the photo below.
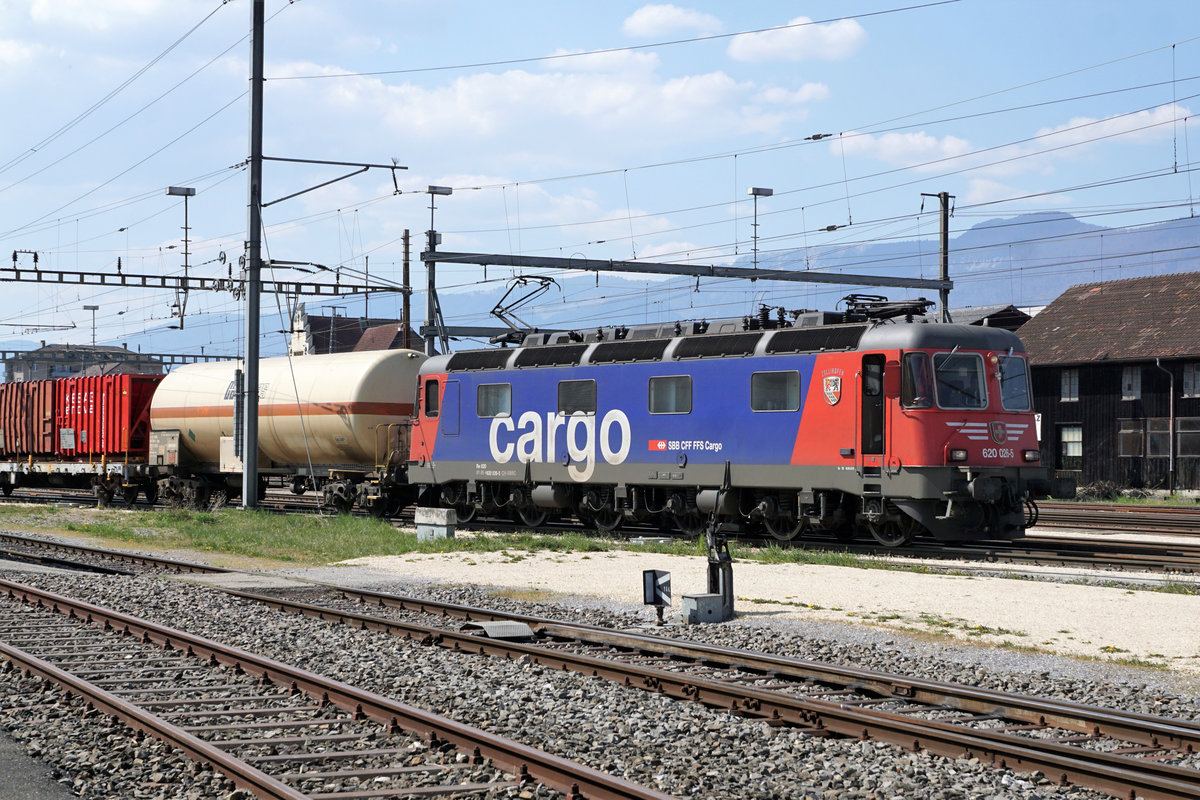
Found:
<svg viewBox="0 0 1200 800"><path fill-rule="evenodd" d="M107 560L107 551L90 549L89 558ZM169 572L182 564L131 554L122 560ZM318 587L302 599L228 594L431 646L528 658L812 735L877 739L1001 769L1038 770L1115 796L1200 799L1195 722L344 587ZM476 630L452 630L448 622Z"/></svg>

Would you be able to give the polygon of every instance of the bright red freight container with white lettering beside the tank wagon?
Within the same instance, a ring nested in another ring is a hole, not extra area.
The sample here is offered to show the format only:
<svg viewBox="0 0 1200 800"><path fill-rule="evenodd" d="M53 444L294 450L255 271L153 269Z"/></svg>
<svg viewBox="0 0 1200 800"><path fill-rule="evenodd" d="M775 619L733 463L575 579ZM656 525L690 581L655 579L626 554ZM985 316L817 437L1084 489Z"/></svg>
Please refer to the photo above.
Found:
<svg viewBox="0 0 1200 800"><path fill-rule="evenodd" d="M58 381L55 452L66 458L144 461L150 399L162 375L92 375Z"/></svg>

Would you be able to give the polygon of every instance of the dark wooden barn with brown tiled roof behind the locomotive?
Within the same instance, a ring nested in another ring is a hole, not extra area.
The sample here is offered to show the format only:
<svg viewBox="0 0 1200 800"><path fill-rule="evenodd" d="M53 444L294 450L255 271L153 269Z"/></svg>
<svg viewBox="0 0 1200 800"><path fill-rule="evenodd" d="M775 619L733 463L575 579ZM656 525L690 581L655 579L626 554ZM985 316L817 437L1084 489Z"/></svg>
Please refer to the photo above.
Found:
<svg viewBox="0 0 1200 800"><path fill-rule="evenodd" d="M1080 486L1200 489L1200 272L1073 287L1019 335L1044 463Z"/></svg>

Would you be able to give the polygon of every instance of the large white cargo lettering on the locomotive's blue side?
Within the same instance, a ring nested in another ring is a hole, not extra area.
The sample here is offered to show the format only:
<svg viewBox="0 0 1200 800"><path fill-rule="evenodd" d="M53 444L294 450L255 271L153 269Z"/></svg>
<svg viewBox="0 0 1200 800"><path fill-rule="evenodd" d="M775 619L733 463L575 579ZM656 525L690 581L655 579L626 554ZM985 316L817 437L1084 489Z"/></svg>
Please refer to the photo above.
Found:
<svg viewBox="0 0 1200 800"><path fill-rule="evenodd" d="M570 416L560 413L547 413L545 426L536 411L526 411L514 423L511 416L498 416L492 420L487 432L487 446L492 458L500 464L512 461L514 456L522 464L547 463L558 461L558 431L566 428L566 455L570 464L566 474L572 481L583 482L592 477L596 461L596 419L595 415L576 411ZM617 433L617 446L612 445L613 428ZM583 443L580 444L580 431L583 431ZM502 432L504 434L502 441ZM518 433L516 440L512 435ZM629 456L631 441L629 417L620 409L612 409L600 420L600 456L608 464L623 464ZM581 463L582 462L582 463Z"/></svg>

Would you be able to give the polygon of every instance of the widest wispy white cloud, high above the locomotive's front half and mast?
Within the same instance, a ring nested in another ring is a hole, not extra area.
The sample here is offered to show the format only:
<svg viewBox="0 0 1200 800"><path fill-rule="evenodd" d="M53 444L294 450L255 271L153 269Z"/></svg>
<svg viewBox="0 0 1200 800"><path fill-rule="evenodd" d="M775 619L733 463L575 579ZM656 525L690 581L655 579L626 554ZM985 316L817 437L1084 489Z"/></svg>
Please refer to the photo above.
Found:
<svg viewBox="0 0 1200 800"><path fill-rule="evenodd" d="M584 144L596 145L598 137L611 148L622 137L630 137L632 145L646 137L684 142L750 131L778 133L788 121L804 118L804 102L828 94L821 84L775 89L720 71L662 78L656 74L658 59L646 54L619 56L608 70L600 68L604 64L586 64L581 71L472 74L436 86L373 79L277 82L275 91L292 95L289 107L342 114L343 130L353 130L349 120L358 115L406 139L480 142L538 132L530 144L556 143L542 151L544 158L558 144L578 152ZM278 77L340 71L310 64L271 68Z"/></svg>

